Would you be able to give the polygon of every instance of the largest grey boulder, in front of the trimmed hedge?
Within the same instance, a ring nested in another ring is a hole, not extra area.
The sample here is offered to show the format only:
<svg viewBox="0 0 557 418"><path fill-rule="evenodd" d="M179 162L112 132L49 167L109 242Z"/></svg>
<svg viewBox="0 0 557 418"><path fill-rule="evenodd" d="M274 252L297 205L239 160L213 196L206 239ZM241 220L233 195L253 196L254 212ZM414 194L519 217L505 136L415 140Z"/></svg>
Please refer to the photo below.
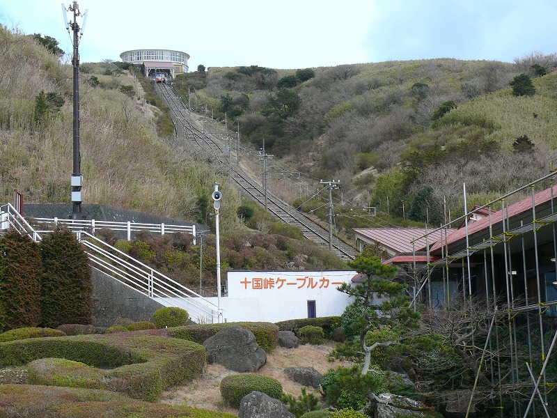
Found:
<svg viewBox="0 0 557 418"><path fill-rule="evenodd" d="M260 348L256 336L238 325L223 328L203 343L207 362L225 366L240 373L258 371L267 362L267 353Z"/></svg>

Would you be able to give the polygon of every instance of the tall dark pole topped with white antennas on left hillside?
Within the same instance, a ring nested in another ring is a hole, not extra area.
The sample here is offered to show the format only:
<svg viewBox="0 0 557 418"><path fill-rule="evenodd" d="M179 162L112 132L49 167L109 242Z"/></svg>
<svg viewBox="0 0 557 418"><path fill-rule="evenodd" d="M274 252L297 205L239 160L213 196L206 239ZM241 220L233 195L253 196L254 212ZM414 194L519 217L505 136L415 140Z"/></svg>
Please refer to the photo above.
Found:
<svg viewBox="0 0 557 418"><path fill-rule="evenodd" d="M68 8L68 11L74 13L73 22L68 23L68 16L66 15L65 6L62 4L62 11L64 15L65 29L70 33L70 27L73 31L73 100L74 100L74 126L73 126L73 171L71 178L72 186L72 214L71 219L83 219L83 214L81 213L81 203L83 202L83 196L81 194L81 187L83 187L83 176L81 176L81 154L79 153L79 40L83 36L83 29L85 22L87 20L87 11L85 10L85 15L83 18L83 26L81 26L81 31L79 30L79 24L77 24L77 17L81 16L79 12L79 5L77 1L74 1L72 6ZM79 35L78 35L79 33Z"/></svg>

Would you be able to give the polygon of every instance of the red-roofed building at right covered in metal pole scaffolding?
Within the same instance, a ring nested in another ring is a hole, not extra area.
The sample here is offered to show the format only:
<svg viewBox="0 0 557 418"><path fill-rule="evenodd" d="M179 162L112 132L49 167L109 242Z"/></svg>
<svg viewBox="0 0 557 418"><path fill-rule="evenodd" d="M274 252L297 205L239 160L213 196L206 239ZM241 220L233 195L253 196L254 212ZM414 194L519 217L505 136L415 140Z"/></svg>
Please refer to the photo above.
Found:
<svg viewBox="0 0 557 418"><path fill-rule="evenodd" d="M492 394L498 393L498 415L551 418L548 396L557 382L555 366L553 376L548 374L552 355L557 364L556 177L552 171L471 211L464 185L464 215L418 238L427 240L427 263L416 274L420 269L414 261L414 306L421 300L430 309L450 311L458 305L466 312L482 298L492 312L487 337L469 336L468 346L480 360L466 417L485 370L496 388ZM518 196L528 197L509 204ZM455 224L460 229L448 231ZM434 301L436 280L442 291ZM485 341L483 349L478 340ZM503 346L505 358L500 357Z"/></svg>

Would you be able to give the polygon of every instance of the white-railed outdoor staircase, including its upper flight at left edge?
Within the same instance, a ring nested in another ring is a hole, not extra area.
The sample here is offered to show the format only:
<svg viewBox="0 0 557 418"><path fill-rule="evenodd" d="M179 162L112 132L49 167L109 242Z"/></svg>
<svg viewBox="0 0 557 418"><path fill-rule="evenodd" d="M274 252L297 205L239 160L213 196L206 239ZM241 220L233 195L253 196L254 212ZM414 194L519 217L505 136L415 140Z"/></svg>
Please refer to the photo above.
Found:
<svg viewBox="0 0 557 418"><path fill-rule="evenodd" d="M52 226L55 226L54 221ZM42 240L41 233L49 232L45 230L39 233L33 229L10 203L6 203L0 206L0 233L8 229L15 229L35 242ZM197 323L215 323L222 317L222 312L219 312L217 305L186 286L96 238L91 233L78 229L72 231L84 246L91 267L160 304L187 310L192 320L196 320Z"/></svg>

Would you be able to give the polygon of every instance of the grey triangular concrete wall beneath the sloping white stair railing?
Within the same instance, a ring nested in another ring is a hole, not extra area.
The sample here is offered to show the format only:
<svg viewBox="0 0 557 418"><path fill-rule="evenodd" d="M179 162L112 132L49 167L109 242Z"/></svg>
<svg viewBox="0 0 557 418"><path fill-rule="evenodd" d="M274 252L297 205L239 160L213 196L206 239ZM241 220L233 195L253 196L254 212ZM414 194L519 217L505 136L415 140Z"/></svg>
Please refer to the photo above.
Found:
<svg viewBox="0 0 557 418"><path fill-rule="evenodd" d="M134 321L152 320L152 314L164 305L93 268L93 303L95 327L110 327L118 318Z"/></svg>

